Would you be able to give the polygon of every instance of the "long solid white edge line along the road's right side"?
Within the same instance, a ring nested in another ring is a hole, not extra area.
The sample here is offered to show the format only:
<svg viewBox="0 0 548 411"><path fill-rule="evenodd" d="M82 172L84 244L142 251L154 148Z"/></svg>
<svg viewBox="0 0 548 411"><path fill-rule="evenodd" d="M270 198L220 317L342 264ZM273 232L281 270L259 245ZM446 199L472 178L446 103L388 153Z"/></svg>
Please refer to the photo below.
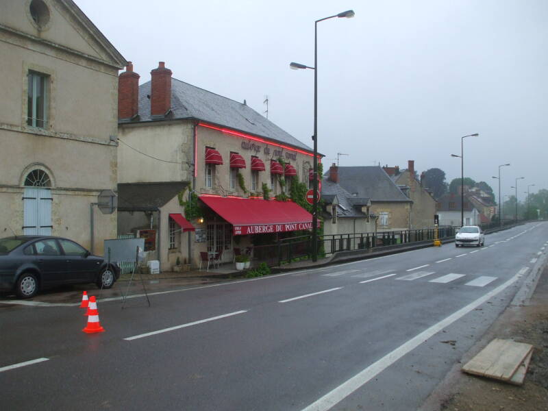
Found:
<svg viewBox="0 0 548 411"><path fill-rule="evenodd" d="M525 271L527 271L527 267L524 268ZM520 273L521 271L523 271L523 269L520 270ZM473 311L478 306L481 306L483 303L485 303L495 295L499 294L499 292L514 284L514 282L516 282L516 280L521 277L520 273L514 275L514 277L510 278L507 282L501 284L494 290L487 292L486 295L484 295L483 297L479 297L477 300L469 303L467 306L464 306L460 310L453 312L453 314L447 316L439 323L436 323L432 325L432 327L425 329L420 334L417 334L406 343L403 343L402 345L397 347L397 349L395 349L394 351L391 351L390 353L386 354L386 356L380 358L376 362L373 362L373 364L366 367L366 369L360 371L358 374L354 375L343 384L340 384L340 386L334 388L334 390L329 391L329 393L327 393L317 401L314 401L314 403L310 404L310 406L303 408L302 411L327 411L336 406L336 404L340 403L340 401L343 401L343 399L351 395L354 391L358 390L367 382L371 381L371 379L382 373L382 371L387 369L388 366L394 364L397 360L405 356L407 353L410 353L410 351L412 351L416 347L419 347L419 345L428 340L428 338L436 335L442 329L448 327L458 319L461 319L464 315Z"/></svg>

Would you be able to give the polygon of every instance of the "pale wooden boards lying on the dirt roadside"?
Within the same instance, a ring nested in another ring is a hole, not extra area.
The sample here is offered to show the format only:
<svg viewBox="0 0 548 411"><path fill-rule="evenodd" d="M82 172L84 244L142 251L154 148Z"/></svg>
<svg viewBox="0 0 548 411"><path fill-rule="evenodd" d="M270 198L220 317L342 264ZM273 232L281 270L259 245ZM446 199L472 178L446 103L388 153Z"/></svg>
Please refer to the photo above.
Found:
<svg viewBox="0 0 548 411"><path fill-rule="evenodd" d="M509 381L533 346L495 338L463 367L462 371Z"/></svg>

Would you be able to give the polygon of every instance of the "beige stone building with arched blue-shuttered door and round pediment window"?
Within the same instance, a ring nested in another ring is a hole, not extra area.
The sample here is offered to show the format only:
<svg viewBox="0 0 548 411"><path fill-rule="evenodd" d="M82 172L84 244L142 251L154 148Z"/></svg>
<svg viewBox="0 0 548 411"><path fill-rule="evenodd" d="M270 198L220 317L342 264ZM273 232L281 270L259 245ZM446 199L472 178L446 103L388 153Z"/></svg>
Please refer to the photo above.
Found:
<svg viewBox="0 0 548 411"><path fill-rule="evenodd" d="M102 253L116 213L90 204L116 189L125 59L71 0L2 1L0 55L1 235L65 236Z"/></svg>

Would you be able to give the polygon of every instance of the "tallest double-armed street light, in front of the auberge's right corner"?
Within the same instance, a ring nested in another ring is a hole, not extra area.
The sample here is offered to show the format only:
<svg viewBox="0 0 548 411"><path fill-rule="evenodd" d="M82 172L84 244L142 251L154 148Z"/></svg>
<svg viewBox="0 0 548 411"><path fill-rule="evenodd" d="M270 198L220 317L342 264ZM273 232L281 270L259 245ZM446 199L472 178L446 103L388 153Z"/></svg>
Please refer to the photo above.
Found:
<svg viewBox="0 0 548 411"><path fill-rule="evenodd" d="M318 23L329 18L351 18L354 16L353 10L347 10L333 16L320 18L314 22L314 67L306 66L292 62L289 64L291 69L312 69L314 70L314 199L312 199L312 261L318 260Z"/></svg>

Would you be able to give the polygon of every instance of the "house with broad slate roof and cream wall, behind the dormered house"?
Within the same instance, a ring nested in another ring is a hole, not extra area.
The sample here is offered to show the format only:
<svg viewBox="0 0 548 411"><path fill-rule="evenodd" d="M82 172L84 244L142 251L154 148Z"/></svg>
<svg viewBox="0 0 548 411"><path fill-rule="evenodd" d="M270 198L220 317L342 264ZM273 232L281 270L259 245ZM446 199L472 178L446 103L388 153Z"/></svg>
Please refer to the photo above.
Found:
<svg viewBox="0 0 548 411"><path fill-rule="evenodd" d="M338 167L338 184L352 197L371 201L377 231L410 229L413 201L380 166Z"/></svg>

